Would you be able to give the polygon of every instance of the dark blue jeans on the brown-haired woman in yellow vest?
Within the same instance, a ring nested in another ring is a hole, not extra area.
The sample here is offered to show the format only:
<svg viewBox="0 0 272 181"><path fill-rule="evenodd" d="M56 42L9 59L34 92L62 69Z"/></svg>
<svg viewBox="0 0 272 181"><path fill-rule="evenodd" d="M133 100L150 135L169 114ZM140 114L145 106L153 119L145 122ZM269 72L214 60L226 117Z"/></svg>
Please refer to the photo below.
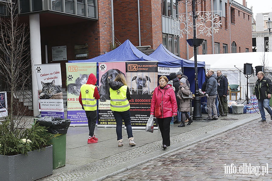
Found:
<svg viewBox="0 0 272 181"><path fill-rule="evenodd" d="M115 121L116 121L116 134L117 134L117 140L122 139L122 125L123 125L123 120L125 122L125 126L127 127L127 133L128 133L128 138L133 137L132 135L132 128L131 128L131 121L130 121L130 111L112 111ZM170 124L170 123L169 123Z"/></svg>

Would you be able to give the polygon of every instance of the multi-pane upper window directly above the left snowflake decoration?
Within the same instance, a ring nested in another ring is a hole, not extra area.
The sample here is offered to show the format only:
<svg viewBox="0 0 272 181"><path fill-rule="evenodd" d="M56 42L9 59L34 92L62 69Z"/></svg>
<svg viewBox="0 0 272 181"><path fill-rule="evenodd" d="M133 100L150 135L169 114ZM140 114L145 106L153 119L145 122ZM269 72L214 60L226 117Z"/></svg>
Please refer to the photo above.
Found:
<svg viewBox="0 0 272 181"><path fill-rule="evenodd" d="M168 17L178 16L176 0L161 0L161 14Z"/></svg>

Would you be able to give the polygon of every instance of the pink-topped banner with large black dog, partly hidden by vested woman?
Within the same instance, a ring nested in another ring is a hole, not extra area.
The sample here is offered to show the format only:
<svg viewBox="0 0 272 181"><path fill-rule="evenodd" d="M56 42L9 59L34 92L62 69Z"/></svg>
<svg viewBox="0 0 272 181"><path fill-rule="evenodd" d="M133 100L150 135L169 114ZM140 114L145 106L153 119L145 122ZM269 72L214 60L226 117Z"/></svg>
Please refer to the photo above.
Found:
<svg viewBox="0 0 272 181"><path fill-rule="evenodd" d="M99 66L99 104L97 127L116 127L115 118L110 108L109 82L114 81L116 75L126 72L125 62L103 62Z"/></svg>

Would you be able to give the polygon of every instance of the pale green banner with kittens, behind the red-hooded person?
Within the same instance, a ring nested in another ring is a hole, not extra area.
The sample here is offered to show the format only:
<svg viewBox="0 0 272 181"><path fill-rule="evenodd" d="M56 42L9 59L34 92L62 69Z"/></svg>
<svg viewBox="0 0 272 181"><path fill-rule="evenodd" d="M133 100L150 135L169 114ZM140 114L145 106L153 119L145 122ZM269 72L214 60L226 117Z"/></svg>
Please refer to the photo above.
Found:
<svg viewBox="0 0 272 181"><path fill-rule="evenodd" d="M86 113L78 98L81 85L87 83L91 73L96 75L96 62L66 63L67 119L71 120L70 125L88 125Z"/></svg>

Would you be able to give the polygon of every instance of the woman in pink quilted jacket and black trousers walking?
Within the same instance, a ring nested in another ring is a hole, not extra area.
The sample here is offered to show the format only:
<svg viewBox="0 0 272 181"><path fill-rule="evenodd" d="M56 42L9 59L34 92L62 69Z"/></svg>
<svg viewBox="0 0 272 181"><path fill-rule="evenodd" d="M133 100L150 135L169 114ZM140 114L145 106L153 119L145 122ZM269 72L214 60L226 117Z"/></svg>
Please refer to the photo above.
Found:
<svg viewBox="0 0 272 181"><path fill-rule="evenodd" d="M168 79L166 76L160 76L159 86L154 90L150 108L151 115L154 115L155 107L160 107L162 110L161 116L158 116L157 119L164 149L166 149L167 146L170 146L170 122L172 116L177 115L175 92L167 82Z"/></svg>

